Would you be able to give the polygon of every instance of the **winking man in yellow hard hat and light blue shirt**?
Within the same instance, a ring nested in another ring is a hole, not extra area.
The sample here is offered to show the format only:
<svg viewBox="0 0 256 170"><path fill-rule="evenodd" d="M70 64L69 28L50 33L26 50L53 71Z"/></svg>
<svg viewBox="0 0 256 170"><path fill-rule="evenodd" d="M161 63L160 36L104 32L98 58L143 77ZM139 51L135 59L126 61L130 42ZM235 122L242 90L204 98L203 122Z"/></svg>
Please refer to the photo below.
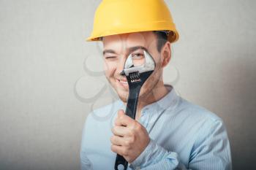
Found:
<svg viewBox="0 0 256 170"><path fill-rule="evenodd" d="M86 118L80 150L82 169L114 169L116 153L128 169L231 169L222 120L178 96L162 79L178 32L163 0L103 0L89 41L103 43L105 76L120 100ZM125 115L129 88L127 56L154 58L153 74L140 90L135 120ZM102 119L102 117L105 117Z"/></svg>

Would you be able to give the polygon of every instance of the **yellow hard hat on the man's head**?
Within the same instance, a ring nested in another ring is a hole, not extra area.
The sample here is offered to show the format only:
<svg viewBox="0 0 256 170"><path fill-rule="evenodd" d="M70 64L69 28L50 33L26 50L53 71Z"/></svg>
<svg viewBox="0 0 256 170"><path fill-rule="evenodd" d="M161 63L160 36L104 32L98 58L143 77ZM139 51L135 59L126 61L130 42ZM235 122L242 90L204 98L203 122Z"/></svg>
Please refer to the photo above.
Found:
<svg viewBox="0 0 256 170"><path fill-rule="evenodd" d="M178 40L164 0L102 0L94 15L94 29L86 41L140 31L167 31L169 42Z"/></svg>

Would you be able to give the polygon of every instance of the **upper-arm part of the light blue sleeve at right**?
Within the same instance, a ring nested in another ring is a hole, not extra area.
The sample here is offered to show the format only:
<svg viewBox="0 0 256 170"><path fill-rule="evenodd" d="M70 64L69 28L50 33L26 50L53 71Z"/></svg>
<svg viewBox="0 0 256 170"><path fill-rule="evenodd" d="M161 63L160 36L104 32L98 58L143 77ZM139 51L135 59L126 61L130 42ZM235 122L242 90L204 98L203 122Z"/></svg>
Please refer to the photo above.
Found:
<svg viewBox="0 0 256 170"><path fill-rule="evenodd" d="M208 131L201 131L190 155L191 169L232 169L230 143L222 120L215 120Z"/></svg>

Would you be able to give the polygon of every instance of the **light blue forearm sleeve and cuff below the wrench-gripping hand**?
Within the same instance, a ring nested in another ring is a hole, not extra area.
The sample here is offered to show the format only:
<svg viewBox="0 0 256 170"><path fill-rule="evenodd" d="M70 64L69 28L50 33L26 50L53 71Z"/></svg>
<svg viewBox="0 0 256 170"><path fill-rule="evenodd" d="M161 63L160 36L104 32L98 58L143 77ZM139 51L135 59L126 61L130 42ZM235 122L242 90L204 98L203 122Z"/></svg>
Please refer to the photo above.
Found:
<svg viewBox="0 0 256 170"><path fill-rule="evenodd" d="M159 163L165 158L167 158L169 162L171 161L171 164L173 166L178 166L177 157L178 155L176 154L176 152L168 152L163 147L159 146L159 144L154 142L153 139L150 139L150 142L148 143L146 149L143 150L138 158L132 161L132 163L129 163L129 167L131 169L142 169L143 167Z"/></svg>

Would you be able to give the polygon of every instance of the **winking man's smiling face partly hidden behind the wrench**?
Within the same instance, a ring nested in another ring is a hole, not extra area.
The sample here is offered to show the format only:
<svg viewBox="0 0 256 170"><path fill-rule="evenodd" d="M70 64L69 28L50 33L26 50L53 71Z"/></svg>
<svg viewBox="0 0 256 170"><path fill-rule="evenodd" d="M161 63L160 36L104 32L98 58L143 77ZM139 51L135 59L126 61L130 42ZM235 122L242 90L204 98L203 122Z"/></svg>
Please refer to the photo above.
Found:
<svg viewBox="0 0 256 170"><path fill-rule="evenodd" d="M125 103L129 96L129 87L127 78L120 75L124 69L124 63L130 53L138 57L143 55L141 47L148 50L148 53L154 58L156 68L141 88L140 99L151 96L162 78L162 59L157 50L157 36L151 31L118 34L105 36L102 42L105 76L110 85L116 90L119 98Z"/></svg>

